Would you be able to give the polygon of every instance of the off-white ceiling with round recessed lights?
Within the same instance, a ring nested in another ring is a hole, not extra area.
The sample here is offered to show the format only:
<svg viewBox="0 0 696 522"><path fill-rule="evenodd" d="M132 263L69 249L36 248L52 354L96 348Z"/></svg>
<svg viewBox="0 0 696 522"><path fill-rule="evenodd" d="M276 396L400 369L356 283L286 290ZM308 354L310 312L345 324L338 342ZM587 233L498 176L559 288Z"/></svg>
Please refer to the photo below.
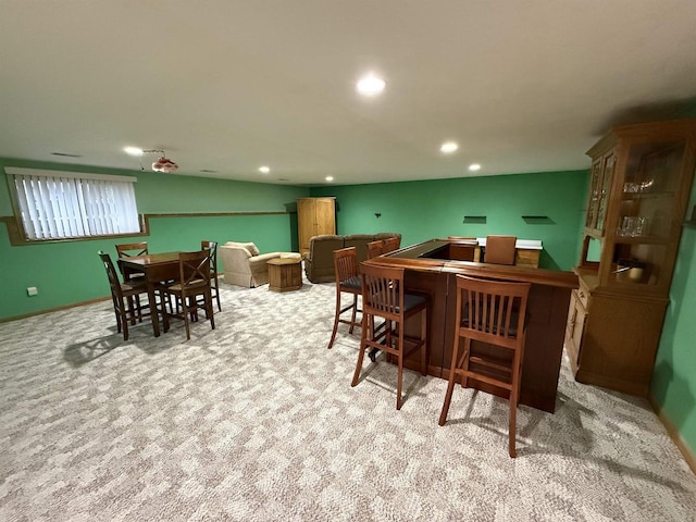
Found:
<svg viewBox="0 0 696 522"><path fill-rule="evenodd" d="M364 99L371 71L387 89ZM139 146L310 185L564 171L695 101L695 0L0 1L5 158L139 170Z"/></svg>

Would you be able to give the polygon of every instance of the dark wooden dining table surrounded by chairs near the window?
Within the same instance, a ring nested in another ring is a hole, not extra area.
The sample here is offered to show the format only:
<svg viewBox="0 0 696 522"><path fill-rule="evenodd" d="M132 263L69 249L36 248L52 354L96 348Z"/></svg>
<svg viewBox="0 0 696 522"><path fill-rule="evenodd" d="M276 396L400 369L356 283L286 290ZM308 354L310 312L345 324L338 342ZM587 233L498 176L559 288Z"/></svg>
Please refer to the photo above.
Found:
<svg viewBox="0 0 696 522"><path fill-rule="evenodd" d="M146 256L134 256L129 258L119 258L119 268L125 282L128 282L134 274L144 274L148 290L152 316L152 331L156 337L160 336L159 310L154 298L157 285L163 281L177 279L179 252L149 253ZM161 304L162 307L164 303ZM164 313L164 310L162 310Z"/></svg>

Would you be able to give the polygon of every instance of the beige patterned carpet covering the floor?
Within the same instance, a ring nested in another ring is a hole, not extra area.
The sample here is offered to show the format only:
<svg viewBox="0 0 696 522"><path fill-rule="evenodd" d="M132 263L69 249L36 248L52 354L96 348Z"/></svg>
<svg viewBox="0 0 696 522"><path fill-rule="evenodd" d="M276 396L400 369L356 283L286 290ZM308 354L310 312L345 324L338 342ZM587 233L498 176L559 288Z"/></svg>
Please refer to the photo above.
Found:
<svg viewBox="0 0 696 522"><path fill-rule="evenodd" d="M643 400L575 383L555 414L331 335L334 288L225 286L217 328L127 343L109 302L0 324L1 521L688 521L696 477ZM369 361L365 362L365 365Z"/></svg>

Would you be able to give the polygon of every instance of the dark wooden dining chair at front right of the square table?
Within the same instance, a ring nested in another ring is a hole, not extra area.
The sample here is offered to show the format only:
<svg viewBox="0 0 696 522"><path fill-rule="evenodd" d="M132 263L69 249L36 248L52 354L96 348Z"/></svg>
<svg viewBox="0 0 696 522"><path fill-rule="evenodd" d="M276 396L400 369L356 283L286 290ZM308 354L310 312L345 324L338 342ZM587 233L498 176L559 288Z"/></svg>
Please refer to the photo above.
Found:
<svg viewBox="0 0 696 522"><path fill-rule="evenodd" d="M164 332L170 330L170 318L181 319L186 325L186 339L190 339L189 316L191 321L197 321L198 310L206 311L206 319L210 321L211 328L215 330L210 289L210 256L211 250L179 252L178 279L158 285L162 302L170 302L169 307L162 307ZM199 299L201 296L202 299ZM174 300L175 306L171 304L170 299Z"/></svg>

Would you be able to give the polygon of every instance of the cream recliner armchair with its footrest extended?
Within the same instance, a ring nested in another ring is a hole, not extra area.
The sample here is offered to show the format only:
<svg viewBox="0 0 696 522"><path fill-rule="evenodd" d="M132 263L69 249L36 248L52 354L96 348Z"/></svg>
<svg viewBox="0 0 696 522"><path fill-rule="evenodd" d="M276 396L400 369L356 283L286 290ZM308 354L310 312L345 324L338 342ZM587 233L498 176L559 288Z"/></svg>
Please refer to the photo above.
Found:
<svg viewBox="0 0 696 522"><path fill-rule="evenodd" d="M257 246L249 243L227 241L217 249L223 265L224 282L228 285L253 288L269 282L266 263L275 258L297 258L297 252L260 253Z"/></svg>

